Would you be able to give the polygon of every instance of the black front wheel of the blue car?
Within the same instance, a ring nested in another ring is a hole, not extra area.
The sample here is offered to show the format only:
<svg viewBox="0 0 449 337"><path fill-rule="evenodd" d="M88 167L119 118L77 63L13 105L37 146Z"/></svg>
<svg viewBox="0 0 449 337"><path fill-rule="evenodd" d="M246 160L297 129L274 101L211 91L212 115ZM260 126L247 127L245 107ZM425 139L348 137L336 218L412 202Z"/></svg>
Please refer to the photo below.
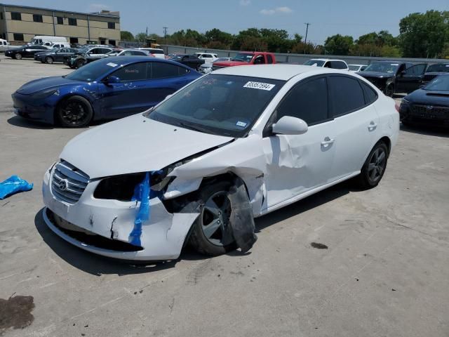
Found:
<svg viewBox="0 0 449 337"><path fill-rule="evenodd" d="M93 117L91 103L81 96L72 96L63 100L56 109L56 117L61 126L82 128L88 126Z"/></svg>

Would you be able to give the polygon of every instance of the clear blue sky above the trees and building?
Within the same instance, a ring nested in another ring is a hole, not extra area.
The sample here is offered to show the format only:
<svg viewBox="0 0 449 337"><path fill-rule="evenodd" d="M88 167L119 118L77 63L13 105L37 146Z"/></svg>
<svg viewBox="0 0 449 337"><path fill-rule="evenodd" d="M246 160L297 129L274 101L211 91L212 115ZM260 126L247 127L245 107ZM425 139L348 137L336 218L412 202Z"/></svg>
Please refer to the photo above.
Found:
<svg viewBox="0 0 449 337"><path fill-rule="evenodd" d="M449 10L448 0L0 0L19 4L76 12L106 9L120 12L121 30L133 34L148 32L163 35L180 29L206 32L218 28L236 34L251 27L286 29L293 37L323 44L333 34L357 39L369 32L388 30L399 34L399 21L410 13Z"/></svg>

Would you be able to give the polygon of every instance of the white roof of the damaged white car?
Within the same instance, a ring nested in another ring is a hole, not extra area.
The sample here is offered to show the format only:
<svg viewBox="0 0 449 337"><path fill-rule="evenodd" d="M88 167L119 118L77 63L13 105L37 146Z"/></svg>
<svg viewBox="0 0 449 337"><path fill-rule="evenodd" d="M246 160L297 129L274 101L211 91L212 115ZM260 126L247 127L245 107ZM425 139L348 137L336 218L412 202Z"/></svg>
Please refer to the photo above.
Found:
<svg viewBox="0 0 449 337"><path fill-rule="evenodd" d="M260 77L262 79L280 79L288 81L299 74L349 74L347 70L335 70L309 65L239 65L215 70L213 74Z"/></svg>

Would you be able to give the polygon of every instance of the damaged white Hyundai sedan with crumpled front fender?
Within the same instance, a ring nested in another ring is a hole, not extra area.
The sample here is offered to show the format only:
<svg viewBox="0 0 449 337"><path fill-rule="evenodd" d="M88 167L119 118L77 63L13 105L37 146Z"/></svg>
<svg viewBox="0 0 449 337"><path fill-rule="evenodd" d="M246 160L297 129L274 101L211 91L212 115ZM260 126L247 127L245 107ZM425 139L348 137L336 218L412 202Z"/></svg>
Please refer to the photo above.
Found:
<svg viewBox="0 0 449 337"><path fill-rule="evenodd" d="M376 186L398 128L394 100L356 74L228 67L71 140L44 176L43 217L112 258L246 251L253 218L352 177Z"/></svg>

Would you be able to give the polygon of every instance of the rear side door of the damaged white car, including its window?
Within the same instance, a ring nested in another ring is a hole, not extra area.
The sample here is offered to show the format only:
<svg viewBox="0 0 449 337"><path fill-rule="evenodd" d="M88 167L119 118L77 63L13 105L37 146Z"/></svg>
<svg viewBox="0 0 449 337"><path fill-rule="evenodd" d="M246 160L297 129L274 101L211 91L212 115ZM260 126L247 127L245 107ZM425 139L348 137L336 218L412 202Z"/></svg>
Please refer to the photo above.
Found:
<svg viewBox="0 0 449 337"><path fill-rule="evenodd" d="M328 75L329 105L335 125L333 180L360 171L378 140L377 93L368 84L344 74Z"/></svg>

